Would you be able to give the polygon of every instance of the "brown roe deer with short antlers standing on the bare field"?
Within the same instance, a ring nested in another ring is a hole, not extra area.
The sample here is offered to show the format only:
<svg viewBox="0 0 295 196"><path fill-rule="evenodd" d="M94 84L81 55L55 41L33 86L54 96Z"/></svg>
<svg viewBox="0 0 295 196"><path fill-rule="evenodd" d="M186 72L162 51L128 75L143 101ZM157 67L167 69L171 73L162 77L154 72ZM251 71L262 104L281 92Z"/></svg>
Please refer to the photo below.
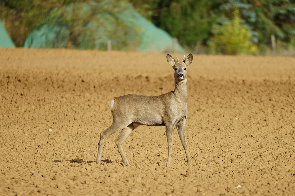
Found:
<svg viewBox="0 0 295 196"><path fill-rule="evenodd" d="M106 130L100 134L96 163L101 161L102 148L104 141L110 135L121 130L115 143L122 157L123 163L129 165L122 143L130 133L139 125L165 126L168 145L168 165L171 162L171 151L173 143L173 128L176 126L179 138L184 148L187 164L191 165L189 152L186 148L186 138L184 127L187 119L187 68L193 61L193 55L189 54L182 61L171 55L166 56L169 65L174 69L174 91L159 96L144 96L128 94L120 97L114 97L111 101L111 113L113 122Z"/></svg>

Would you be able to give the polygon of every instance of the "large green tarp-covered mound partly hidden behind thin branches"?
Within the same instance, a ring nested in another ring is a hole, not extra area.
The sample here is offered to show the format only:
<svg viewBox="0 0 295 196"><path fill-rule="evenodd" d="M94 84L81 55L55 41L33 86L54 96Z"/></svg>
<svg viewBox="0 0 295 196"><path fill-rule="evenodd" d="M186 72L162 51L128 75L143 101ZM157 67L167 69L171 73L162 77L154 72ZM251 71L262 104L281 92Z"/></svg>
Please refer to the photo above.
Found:
<svg viewBox="0 0 295 196"><path fill-rule="evenodd" d="M91 6L96 5L100 6L99 9L107 10L112 9L110 8L110 5L113 3L112 0L105 0L101 3L95 3L92 2L91 5L89 4L83 4L83 9L81 9L78 14L81 14L80 18L83 18L83 14L87 14L87 11L91 8ZM99 10L97 9L97 10ZM153 23L145 19L143 16L141 16L135 9L125 3L121 3L120 6L118 6L119 11L115 14L116 18L120 21L122 21L125 26L127 26L129 29L140 29L140 35L136 33L126 33L126 40L131 43L134 40L137 40L139 44L137 45L136 51L140 52L179 52L184 53L184 49L180 46L180 44L176 43L175 46L173 46L173 38L164 30L159 29L156 27ZM85 11L83 13L83 11ZM68 27L70 26L68 23L61 23L58 20L55 20L56 18L60 17L60 13L57 9L51 11L49 16L44 19L44 21L41 22L38 28L34 29L29 36L27 37L26 41L24 42L24 47L26 48L62 48L67 46L67 42L69 39L69 30ZM69 5L64 9L62 14L69 15L68 18L71 18L71 14L73 13L73 5ZM100 49L101 44L106 45L106 42L108 39L110 39L108 36L110 33L115 34L114 31L110 31L109 29L112 29L112 26L114 26L114 21L112 19L112 15L108 15L107 12L97 12L93 18L96 17L96 19L91 20L87 24L87 28L89 29L96 29L95 33L99 32L99 34L85 32L83 33L84 37L80 37L78 41L78 46L75 46L74 48L78 49ZM54 18L54 20L52 20ZM97 19L99 18L99 19ZM49 21L57 21L55 23L53 22L47 22ZM99 21L99 23L97 22ZM109 26L108 26L109 25ZM109 27L109 28L102 28L103 27ZM82 33L81 33L82 34ZM92 37L91 37L92 36ZM93 37L96 38L96 40L93 40ZM82 41L81 41L82 40ZM90 41L91 40L91 41ZM111 39L112 40L112 39ZM115 42L115 41L114 41ZM112 44L114 43L112 40ZM126 48L124 48L127 50Z"/></svg>

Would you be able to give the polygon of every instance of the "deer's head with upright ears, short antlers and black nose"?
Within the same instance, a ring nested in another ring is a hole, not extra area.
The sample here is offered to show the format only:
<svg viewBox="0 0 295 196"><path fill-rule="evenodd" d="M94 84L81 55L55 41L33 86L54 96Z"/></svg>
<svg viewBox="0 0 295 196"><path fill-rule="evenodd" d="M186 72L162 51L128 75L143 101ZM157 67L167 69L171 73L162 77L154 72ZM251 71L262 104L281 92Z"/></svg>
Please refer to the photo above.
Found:
<svg viewBox="0 0 295 196"><path fill-rule="evenodd" d="M193 55L189 54L186 58L184 56L182 61L179 61L177 56L176 59L177 61L170 54L167 54L167 61L174 69L174 78L177 81L183 81L186 79L186 69L193 61Z"/></svg>

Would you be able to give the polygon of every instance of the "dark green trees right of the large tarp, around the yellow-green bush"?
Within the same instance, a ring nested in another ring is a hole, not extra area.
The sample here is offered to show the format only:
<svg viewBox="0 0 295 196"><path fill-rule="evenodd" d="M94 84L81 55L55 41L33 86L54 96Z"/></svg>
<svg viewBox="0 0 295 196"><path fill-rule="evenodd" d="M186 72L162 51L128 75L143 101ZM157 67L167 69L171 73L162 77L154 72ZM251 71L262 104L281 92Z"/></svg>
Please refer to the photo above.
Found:
<svg viewBox="0 0 295 196"><path fill-rule="evenodd" d="M290 43L295 36L294 0L130 0L154 24L193 48L204 45L213 35L212 28L231 21L234 7L241 21L251 30L251 39L257 44L270 44L274 34Z"/></svg>

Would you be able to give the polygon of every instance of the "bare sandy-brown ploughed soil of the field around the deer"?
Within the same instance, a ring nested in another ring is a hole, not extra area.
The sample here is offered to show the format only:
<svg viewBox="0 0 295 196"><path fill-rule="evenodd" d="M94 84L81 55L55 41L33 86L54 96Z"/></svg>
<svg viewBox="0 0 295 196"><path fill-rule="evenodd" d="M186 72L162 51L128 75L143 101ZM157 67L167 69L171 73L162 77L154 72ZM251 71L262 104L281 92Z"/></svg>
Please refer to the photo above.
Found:
<svg viewBox="0 0 295 196"><path fill-rule="evenodd" d="M176 129L166 167L165 127L144 125L123 143L130 165L114 143L119 133L96 164L114 96L173 89L163 53L0 49L1 195L294 195L291 57L194 55L186 121L193 167Z"/></svg>

